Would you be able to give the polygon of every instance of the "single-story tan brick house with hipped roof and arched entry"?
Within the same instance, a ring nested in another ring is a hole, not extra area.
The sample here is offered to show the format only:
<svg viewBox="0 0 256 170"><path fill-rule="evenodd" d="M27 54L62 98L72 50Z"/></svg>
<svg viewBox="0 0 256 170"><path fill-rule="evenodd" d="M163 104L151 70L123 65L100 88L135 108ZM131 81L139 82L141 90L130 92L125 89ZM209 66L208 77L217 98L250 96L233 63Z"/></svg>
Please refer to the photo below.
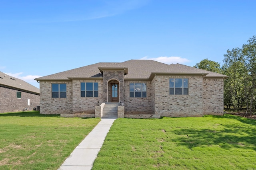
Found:
<svg viewBox="0 0 256 170"><path fill-rule="evenodd" d="M110 103L118 117L223 115L223 74L152 60L96 63L36 78L40 113L102 117Z"/></svg>

